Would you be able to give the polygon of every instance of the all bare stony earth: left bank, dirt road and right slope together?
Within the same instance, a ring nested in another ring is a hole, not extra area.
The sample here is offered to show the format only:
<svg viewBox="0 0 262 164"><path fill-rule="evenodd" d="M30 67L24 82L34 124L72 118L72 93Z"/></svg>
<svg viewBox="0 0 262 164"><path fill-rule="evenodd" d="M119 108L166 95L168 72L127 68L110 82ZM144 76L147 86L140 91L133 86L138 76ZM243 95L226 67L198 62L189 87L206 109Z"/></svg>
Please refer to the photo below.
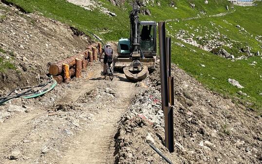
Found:
<svg viewBox="0 0 262 164"><path fill-rule="evenodd" d="M90 42L67 25L2 3L0 14L0 46L7 52L0 55L21 72L2 73L2 94L38 83L48 62ZM110 81L101 70L95 62L82 78L44 96L0 106L0 164L166 164L146 143L149 136L174 164L262 164L262 117L254 111L206 90L173 65L175 151L169 153L158 65L138 83L123 73Z"/></svg>

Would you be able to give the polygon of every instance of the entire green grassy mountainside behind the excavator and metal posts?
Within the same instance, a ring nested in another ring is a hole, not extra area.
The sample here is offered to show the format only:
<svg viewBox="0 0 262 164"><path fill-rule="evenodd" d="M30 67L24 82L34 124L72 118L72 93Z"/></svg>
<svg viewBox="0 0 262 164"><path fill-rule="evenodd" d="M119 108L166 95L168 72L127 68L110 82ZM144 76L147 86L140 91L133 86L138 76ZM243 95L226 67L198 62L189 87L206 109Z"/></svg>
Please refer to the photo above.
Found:
<svg viewBox="0 0 262 164"><path fill-rule="evenodd" d="M107 0L99 0L102 6L115 13L116 17L101 14L97 9L85 10L82 7L68 3L66 0L6 0L20 6L27 12L40 12L44 16L77 27L79 30L89 32L104 40L118 40L129 36L129 13L131 6L126 2L123 7L113 6ZM256 39L262 35L262 3L251 7L232 5L227 0L158 0L147 7L152 16L140 16L144 20L168 20L168 34L173 37L172 61L196 77L201 83L214 91L225 95L237 96L240 101L250 102L248 105L254 109L262 109L262 58L255 56L246 60L231 60L213 55L209 52L177 40L175 36L179 30L186 30L193 34L193 39L203 44L217 34L219 40L230 43L232 47L223 46L234 56L245 55L241 48L249 46L251 53L262 52L262 43ZM160 6L157 2L160 2ZM191 3L195 7L191 7ZM229 11L226 10L229 6ZM225 16L215 15L225 13ZM214 17L213 17L214 16ZM191 19L193 18L193 19ZM241 30L236 27L240 25ZM196 31L196 28L199 30ZM203 39L197 39L202 36ZM206 38L205 38L206 36ZM205 40L206 39L206 40ZM183 43L186 47L178 46L175 42ZM253 62L255 65L250 65ZM201 67L204 64L206 67ZM240 90L227 82L228 78L236 79L244 86ZM243 91L247 96L238 94Z"/></svg>

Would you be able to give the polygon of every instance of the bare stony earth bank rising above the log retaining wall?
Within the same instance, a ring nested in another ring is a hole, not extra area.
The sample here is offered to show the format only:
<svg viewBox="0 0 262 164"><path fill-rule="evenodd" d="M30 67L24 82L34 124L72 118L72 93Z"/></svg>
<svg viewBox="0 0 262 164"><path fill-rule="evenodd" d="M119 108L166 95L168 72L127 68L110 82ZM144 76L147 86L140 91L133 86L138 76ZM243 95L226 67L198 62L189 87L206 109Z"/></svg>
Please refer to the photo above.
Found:
<svg viewBox="0 0 262 164"><path fill-rule="evenodd" d="M0 90L37 84L48 64L75 55L90 42L70 26L0 2L0 59L15 66L0 72Z"/></svg>

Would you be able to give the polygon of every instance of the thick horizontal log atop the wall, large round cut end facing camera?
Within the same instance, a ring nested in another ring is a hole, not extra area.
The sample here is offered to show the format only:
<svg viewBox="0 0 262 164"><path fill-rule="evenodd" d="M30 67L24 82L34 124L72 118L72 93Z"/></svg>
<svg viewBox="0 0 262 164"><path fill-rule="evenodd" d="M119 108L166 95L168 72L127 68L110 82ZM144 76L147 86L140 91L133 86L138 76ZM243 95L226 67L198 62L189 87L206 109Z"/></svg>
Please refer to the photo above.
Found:
<svg viewBox="0 0 262 164"><path fill-rule="evenodd" d="M75 58L83 59L84 56L81 54L78 54L78 55L74 55L64 60L61 60L59 62L51 64L51 66L49 67L49 74L54 75L54 76L61 74L63 70L63 64L68 64L69 67L72 67L75 65Z"/></svg>

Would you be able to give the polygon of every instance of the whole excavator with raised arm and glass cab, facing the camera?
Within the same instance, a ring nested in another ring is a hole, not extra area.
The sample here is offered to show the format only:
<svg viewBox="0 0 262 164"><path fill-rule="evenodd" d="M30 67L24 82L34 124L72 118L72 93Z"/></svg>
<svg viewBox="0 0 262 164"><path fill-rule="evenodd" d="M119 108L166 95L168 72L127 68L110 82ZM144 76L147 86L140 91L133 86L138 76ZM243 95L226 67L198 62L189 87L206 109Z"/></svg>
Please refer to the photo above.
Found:
<svg viewBox="0 0 262 164"><path fill-rule="evenodd" d="M117 44L118 56L114 68L123 68L131 81L141 81L155 69L157 55L156 22L139 21L139 7L130 12L130 38L121 38Z"/></svg>

